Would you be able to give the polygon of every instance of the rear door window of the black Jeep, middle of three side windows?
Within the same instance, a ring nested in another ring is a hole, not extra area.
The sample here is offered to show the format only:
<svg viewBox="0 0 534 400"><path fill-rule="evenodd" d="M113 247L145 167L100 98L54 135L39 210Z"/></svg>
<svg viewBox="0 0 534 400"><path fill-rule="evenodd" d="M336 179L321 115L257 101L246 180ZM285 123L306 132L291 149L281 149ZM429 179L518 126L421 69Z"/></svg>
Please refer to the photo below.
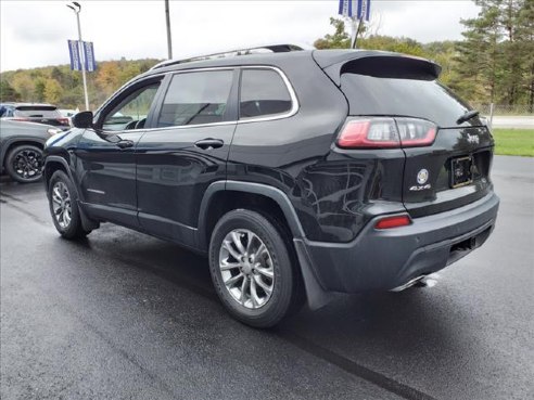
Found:
<svg viewBox="0 0 534 400"><path fill-rule="evenodd" d="M223 122L233 81L233 70L177 74L165 95L158 127Z"/></svg>

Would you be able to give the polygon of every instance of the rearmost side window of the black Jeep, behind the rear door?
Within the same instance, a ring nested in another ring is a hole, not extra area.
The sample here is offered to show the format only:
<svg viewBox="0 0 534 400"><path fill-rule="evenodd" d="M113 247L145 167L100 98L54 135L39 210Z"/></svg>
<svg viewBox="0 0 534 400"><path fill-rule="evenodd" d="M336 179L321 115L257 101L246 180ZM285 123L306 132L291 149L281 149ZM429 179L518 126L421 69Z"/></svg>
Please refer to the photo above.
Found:
<svg viewBox="0 0 534 400"><path fill-rule="evenodd" d="M291 96L280 74L272 69L244 69L241 75L240 119L283 114Z"/></svg>

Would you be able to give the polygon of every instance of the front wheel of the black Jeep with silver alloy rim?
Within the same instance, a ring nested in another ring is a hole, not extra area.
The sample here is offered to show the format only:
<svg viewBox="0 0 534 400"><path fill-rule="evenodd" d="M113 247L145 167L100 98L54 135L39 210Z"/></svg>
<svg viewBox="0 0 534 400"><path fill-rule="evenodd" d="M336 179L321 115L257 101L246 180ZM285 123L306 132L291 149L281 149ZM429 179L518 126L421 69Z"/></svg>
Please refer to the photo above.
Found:
<svg viewBox="0 0 534 400"><path fill-rule="evenodd" d="M76 189L68 176L61 170L55 171L48 184L50 214L58 232L68 240L85 237L90 233L81 224L77 199Z"/></svg>

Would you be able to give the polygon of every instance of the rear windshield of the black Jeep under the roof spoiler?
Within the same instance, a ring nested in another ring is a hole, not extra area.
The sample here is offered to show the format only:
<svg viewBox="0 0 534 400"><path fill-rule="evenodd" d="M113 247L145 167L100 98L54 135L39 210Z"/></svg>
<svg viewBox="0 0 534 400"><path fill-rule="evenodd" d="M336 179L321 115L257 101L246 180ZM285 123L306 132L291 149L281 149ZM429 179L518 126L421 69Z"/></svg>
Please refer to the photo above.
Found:
<svg viewBox="0 0 534 400"><path fill-rule="evenodd" d="M445 128L457 126L456 120L472 109L435 80L343 74L341 90L348 100L351 115L409 116ZM480 125L478 118L469 122Z"/></svg>

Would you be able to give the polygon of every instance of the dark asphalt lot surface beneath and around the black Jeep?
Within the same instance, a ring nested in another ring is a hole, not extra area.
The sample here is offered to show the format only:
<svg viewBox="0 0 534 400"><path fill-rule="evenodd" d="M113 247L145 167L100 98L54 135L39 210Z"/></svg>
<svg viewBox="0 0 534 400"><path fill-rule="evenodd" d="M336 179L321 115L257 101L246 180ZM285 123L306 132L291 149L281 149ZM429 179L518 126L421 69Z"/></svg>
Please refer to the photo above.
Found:
<svg viewBox="0 0 534 400"><path fill-rule="evenodd" d="M486 244L437 285L232 320L207 261L103 224L59 237L42 183L0 183L0 397L532 399L534 158L497 156Z"/></svg>

